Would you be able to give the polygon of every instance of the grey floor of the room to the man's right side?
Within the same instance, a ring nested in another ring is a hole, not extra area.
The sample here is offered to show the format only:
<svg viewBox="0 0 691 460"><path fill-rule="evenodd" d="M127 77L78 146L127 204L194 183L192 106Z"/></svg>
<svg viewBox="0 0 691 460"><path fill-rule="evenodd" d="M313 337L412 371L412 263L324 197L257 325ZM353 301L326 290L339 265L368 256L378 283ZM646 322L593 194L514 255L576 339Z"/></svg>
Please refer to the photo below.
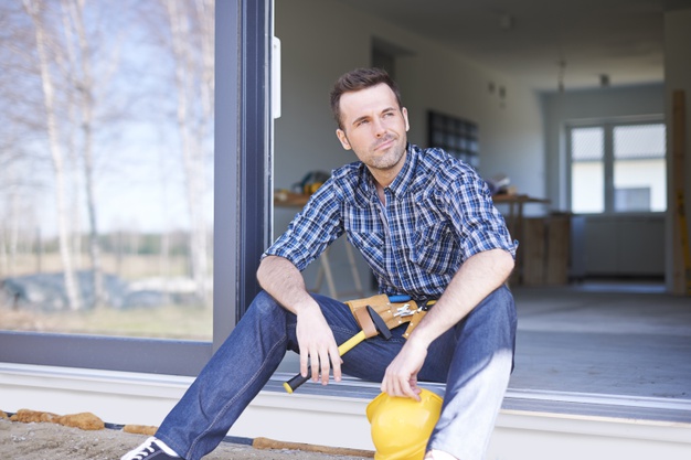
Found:
<svg viewBox="0 0 691 460"><path fill-rule="evenodd" d="M691 421L691 298L659 285L513 289L504 408Z"/></svg>

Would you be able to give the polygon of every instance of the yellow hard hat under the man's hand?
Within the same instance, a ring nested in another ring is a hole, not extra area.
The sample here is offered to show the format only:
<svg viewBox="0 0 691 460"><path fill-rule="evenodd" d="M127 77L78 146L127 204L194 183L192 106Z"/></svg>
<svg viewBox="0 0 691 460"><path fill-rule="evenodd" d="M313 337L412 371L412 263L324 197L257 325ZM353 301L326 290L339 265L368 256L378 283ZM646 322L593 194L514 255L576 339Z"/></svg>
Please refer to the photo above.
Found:
<svg viewBox="0 0 691 460"><path fill-rule="evenodd" d="M421 400L380 394L368 405L375 460L423 460L442 413L442 397L422 388Z"/></svg>

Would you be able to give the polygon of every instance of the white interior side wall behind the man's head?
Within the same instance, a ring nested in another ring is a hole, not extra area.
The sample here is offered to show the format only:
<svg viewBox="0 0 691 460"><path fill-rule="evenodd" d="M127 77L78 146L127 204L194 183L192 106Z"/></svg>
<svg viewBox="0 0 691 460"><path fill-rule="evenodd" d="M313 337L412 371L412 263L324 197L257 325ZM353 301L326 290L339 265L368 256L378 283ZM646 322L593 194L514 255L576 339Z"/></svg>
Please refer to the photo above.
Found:
<svg viewBox="0 0 691 460"><path fill-rule="evenodd" d="M545 195L545 159L540 101L507 75L483 68L435 42L332 0L276 2L276 36L281 41L281 117L275 125L275 186L289 188L307 171L332 169L355 157L338 142L329 92L344 72L371 65L376 36L410 51L396 61L396 79L411 119L408 139L427 147L426 111L470 119L479 127L480 173L506 173L520 193ZM489 83L506 88L500 100ZM295 208L276 208L275 235ZM339 242L340 243L340 242ZM339 290L352 289L342 245L331 260ZM359 264L362 260L359 258ZM306 270L308 282L316 267ZM363 268L363 274L366 269ZM363 275L368 284L368 275Z"/></svg>

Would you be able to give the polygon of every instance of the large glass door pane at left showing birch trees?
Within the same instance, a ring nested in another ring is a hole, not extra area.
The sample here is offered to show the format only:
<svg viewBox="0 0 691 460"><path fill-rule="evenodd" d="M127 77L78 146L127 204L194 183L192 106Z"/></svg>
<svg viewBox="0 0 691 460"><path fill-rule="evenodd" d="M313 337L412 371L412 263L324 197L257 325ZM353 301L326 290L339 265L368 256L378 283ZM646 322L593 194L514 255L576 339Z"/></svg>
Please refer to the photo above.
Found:
<svg viewBox="0 0 691 460"><path fill-rule="evenodd" d="M0 329L211 340L213 2L0 17Z"/></svg>

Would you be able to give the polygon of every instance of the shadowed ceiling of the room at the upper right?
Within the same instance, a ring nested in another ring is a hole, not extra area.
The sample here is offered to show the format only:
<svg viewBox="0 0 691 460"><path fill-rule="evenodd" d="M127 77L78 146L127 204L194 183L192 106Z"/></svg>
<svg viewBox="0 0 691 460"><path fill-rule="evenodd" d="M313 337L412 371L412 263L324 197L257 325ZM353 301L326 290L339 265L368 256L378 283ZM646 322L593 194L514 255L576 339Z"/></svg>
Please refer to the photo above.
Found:
<svg viewBox="0 0 691 460"><path fill-rule="evenodd" d="M663 13L691 0L339 0L539 92L661 83ZM606 77L603 77L605 75Z"/></svg>

